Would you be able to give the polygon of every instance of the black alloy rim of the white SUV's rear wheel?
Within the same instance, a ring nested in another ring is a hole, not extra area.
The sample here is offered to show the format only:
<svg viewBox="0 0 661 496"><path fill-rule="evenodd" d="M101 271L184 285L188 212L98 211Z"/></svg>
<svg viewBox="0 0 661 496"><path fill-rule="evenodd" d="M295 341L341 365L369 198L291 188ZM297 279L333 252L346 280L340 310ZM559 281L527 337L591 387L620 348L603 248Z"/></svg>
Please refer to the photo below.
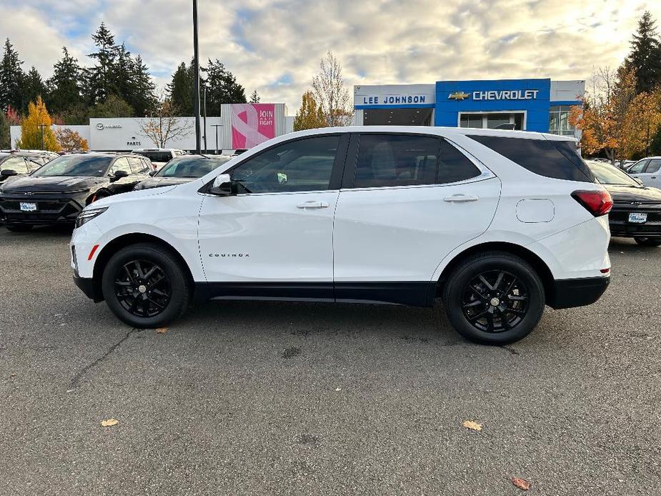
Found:
<svg viewBox="0 0 661 496"><path fill-rule="evenodd" d="M527 312L525 284L505 270L487 270L464 287L462 309L475 329L503 332L520 324Z"/></svg>

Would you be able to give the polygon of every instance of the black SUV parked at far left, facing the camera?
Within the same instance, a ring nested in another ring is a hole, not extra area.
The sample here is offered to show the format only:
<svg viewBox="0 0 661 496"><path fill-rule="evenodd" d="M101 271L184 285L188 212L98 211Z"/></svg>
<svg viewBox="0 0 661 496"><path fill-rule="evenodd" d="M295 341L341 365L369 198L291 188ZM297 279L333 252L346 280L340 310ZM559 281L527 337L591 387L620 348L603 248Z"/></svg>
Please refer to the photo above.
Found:
<svg viewBox="0 0 661 496"><path fill-rule="evenodd" d="M149 159L136 154L70 154L29 176L0 185L0 221L10 231L71 224L91 202L131 191L149 177Z"/></svg>

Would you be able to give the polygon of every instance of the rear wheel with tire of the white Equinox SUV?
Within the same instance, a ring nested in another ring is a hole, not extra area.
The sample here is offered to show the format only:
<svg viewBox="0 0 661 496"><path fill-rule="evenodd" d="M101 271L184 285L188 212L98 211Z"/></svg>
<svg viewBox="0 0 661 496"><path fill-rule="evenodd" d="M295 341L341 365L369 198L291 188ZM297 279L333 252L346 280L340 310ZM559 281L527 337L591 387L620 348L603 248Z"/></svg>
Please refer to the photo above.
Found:
<svg viewBox="0 0 661 496"><path fill-rule="evenodd" d="M526 337L540 322L544 285L524 259L485 252L452 271L443 287L443 302L450 324L463 337L482 344L509 344Z"/></svg>

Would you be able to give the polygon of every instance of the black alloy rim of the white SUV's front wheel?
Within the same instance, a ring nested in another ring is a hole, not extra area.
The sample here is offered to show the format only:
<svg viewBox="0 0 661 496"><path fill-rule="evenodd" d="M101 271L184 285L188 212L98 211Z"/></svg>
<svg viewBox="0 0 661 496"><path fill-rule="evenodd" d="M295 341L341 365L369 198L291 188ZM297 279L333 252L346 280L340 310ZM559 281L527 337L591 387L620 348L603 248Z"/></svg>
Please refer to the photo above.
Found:
<svg viewBox="0 0 661 496"><path fill-rule="evenodd" d="M126 312L136 317L156 317L169 304L172 287L158 264L131 260L115 276L115 295Z"/></svg>

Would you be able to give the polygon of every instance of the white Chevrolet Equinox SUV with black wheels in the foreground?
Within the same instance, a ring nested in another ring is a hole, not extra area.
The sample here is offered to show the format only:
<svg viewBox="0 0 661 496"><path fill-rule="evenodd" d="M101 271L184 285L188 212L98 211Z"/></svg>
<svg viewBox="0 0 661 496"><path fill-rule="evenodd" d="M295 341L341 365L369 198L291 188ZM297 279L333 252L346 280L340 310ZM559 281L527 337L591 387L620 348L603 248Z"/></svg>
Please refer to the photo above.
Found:
<svg viewBox="0 0 661 496"><path fill-rule="evenodd" d="M465 337L525 337L545 304L610 280L610 195L552 134L344 127L277 137L202 178L101 199L71 239L76 284L134 327L193 299L431 307Z"/></svg>

